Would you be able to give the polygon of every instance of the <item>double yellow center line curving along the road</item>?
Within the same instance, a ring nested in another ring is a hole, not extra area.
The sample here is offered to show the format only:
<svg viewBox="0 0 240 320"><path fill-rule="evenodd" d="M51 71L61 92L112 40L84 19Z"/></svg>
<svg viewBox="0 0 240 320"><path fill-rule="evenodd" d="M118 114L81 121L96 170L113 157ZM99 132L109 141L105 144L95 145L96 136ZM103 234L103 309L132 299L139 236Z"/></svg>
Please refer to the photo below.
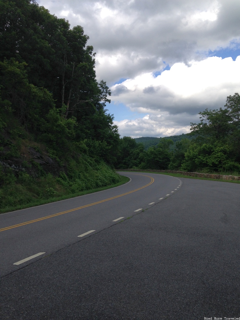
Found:
<svg viewBox="0 0 240 320"><path fill-rule="evenodd" d="M134 173L132 173L132 174L134 174ZM19 223L19 224L15 224L13 226L5 227L5 228L0 229L0 232L1 231L5 231L5 230L9 230L9 229L12 229L12 228L21 227L21 226L24 226L26 224L37 222L37 221L41 221L41 220L44 220L44 219L53 218L53 217L59 216L60 214L64 214L64 213L76 211L76 210L79 210L79 209L87 208L87 207L90 207L92 205L99 204L99 203L102 203L102 202L105 202L105 201L108 201L108 200L116 199L116 198L128 195L128 194L130 194L132 192L135 192L135 191L141 190L143 188L146 188L146 187L150 186L150 184L152 184L154 182L154 179L152 177L150 177L150 176L146 176L144 174L139 174L139 175L148 177L148 178L151 179L151 181L148 184L146 184L145 186L141 187L141 188L138 188L138 189L135 189L135 190L132 190L132 191L129 191L129 192L125 192L125 193L123 193L123 194L121 194L119 196L114 196L114 197L111 197L111 198L108 198L108 199L104 199L104 200L100 200L100 201L97 201L97 202L93 202L91 204L86 204L86 205L83 205L83 206L78 207L78 208L70 209L70 210L67 210L67 211L59 212L59 213L54 213L54 214L51 214L51 215L46 216L46 217L42 217L42 218L39 218L39 219L30 220L30 221L22 222L22 223Z"/></svg>

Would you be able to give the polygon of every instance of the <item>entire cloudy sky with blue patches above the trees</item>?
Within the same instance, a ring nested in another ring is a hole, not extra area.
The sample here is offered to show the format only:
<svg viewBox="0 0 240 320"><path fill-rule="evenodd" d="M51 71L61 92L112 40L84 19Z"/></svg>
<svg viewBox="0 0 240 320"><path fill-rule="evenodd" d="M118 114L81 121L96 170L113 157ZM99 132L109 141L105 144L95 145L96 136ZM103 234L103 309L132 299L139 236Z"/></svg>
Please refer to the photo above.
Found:
<svg viewBox="0 0 240 320"><path fill-rule="evenodd" d="M38 0L81 25L111 88L121 136L190 132L198 112L240 93L239 0ZM238 56L239 55L239 56Z"/></svg>

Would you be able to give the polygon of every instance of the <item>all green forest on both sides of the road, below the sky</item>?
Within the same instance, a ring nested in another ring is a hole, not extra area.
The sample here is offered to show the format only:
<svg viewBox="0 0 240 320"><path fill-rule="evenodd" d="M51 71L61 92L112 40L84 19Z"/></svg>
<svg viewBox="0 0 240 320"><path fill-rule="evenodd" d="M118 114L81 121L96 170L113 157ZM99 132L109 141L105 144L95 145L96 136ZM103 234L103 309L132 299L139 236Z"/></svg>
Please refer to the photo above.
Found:
<svg viewBox="0 0 240 320"><path fill-rule="evenodd" d="M238 93L146 147L120 138L81 26L34 0L0 0L0 17L0 212L124 183L117 169L240 173Z"/></svg>

